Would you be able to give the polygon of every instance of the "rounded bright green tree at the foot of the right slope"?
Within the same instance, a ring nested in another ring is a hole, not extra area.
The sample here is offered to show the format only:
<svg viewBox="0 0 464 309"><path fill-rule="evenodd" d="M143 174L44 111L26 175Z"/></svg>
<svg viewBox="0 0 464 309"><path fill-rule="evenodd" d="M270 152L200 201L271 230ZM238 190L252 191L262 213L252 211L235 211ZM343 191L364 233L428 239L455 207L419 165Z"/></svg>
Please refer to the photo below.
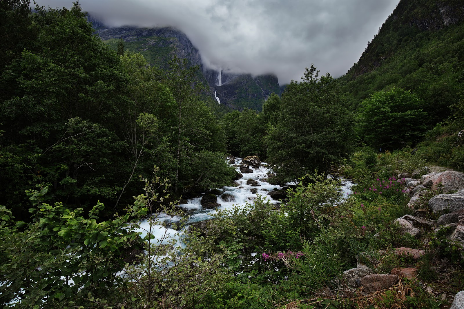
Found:
<svg viewBox="0 0 464 309"><path fill-rule="evenodd" d="M360 103L361 136L375 148L398 149L417 143L426 131L424 101L409 90L375 92Z"/></svg>

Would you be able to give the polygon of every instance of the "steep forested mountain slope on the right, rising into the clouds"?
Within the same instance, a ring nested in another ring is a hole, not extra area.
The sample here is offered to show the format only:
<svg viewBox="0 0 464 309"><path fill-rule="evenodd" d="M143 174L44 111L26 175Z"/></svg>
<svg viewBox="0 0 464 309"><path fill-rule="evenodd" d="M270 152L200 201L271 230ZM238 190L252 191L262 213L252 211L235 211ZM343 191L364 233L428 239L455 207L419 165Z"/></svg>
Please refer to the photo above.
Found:
<svg viewBox="0 0 464 309"><path fill-rule="evenodd" d="M358 63L339 78L350 106L393 86L424 99L430 125L449 115L464 86L464 2L401 0Z"/></svg>

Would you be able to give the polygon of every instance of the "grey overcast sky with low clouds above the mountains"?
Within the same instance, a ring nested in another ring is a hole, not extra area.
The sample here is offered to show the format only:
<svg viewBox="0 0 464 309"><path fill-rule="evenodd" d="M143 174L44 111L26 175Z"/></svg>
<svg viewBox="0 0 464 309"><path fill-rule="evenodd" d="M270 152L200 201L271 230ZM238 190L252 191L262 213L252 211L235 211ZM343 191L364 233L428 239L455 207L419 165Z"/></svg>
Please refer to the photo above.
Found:
<svg viewBox="0 0 464 309"><path fill-rule="evenodd" d="M70 7L70 0L37 0ZM279 83L299 80L314 63L338 77L357 62L367 41L399 0L80 0L110 25L174 26L200 50L203 63Z"/></svg>

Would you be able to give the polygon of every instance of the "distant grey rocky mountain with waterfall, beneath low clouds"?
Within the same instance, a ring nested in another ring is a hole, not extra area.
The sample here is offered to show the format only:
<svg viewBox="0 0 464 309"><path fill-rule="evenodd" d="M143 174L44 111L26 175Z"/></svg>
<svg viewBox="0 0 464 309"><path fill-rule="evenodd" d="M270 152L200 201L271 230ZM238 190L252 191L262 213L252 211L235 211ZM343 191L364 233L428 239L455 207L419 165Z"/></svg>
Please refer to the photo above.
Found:
<svg viewBox="0 0 464 309"><path fill-rule="evenodd" d="M207 68L199 50L183 32L173 27L109 27L92 16L88 19L95 33L114 50L117 50L119 39L122 38L125 50L140 52L150 65L167 69L168 61L175 55L186 58L189 66L200 66L197 78L209 88L206 94L227 107L261 111L264 101L272 93L282 93L277 76L231 74Z"/></svg>

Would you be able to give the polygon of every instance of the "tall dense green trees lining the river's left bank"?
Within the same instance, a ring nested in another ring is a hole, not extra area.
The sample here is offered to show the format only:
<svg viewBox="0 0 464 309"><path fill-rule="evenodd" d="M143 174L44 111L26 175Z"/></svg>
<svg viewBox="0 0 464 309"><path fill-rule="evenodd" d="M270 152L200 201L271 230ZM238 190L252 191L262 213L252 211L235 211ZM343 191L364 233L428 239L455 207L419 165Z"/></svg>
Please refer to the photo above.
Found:
<svg viewBox="0 0 464 309"><path fill-rule="evenodd" d="M220 159L222 128L193 87L198 68L177 59L163 71L140 54L118 57L93 35L77 3L37 6L30 16L18 1L9 4L1 12L27 19L18 26L32 24L35 33L0 72L0 202L14 215L28 220L20 192L35 183L48 184L67 207L90 210L99 198L121 209L141 189L134 175L154 164L175 179L178 194L232 179ZM23 46L16 43L13 50Z"/></svg>

